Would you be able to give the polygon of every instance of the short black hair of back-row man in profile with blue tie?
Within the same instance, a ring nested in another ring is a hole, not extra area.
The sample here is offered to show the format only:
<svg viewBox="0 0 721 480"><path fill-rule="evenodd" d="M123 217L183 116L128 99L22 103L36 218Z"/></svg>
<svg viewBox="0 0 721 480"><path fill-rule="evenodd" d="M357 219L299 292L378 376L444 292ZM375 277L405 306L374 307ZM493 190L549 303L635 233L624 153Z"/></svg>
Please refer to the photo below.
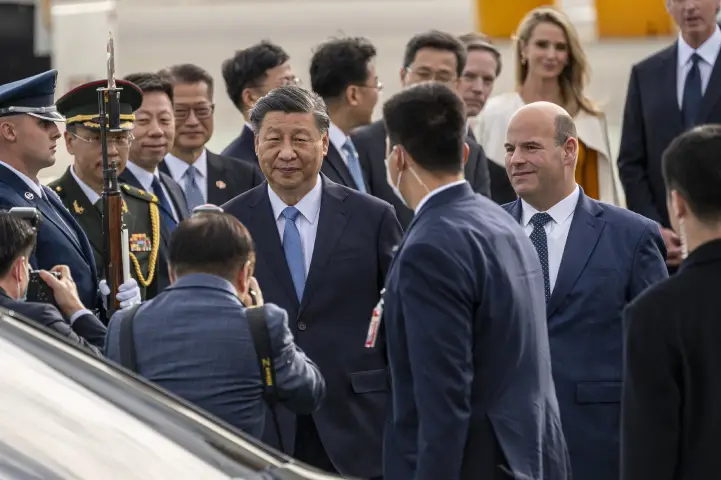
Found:
<svg viewBox="0 0 721 480"><path fill-rule="evenodd" d="M349 86L368 81L368 62L375 56L375 47L364 37L322 43L310 61L311 88L326 101L338 98Z"/></svg>

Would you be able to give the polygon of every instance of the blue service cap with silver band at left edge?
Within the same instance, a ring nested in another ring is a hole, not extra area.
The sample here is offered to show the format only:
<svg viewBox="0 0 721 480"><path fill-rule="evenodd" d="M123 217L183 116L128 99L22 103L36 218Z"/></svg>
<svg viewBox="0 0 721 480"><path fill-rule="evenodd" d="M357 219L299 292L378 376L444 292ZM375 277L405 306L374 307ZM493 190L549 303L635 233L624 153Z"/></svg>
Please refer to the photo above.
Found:
<svg viewBox="0 0 721 480"><path fill-rule="evenodd" d="M57 70L0 85L0 117L26 113L50 122L64 122L55 107Z"/></svg>

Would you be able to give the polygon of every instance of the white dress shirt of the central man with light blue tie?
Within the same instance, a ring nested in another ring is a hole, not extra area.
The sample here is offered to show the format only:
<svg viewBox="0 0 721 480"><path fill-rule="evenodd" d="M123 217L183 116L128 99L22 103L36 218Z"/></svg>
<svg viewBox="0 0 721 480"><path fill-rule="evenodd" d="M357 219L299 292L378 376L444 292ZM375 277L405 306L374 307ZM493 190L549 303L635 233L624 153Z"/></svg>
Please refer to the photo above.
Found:
<svg viewBox="0 0 721 480"><path fill-rule="evenodd" d="M310 271L310 262L313 259L313 247L315 246L315 236L318 233L318 214L320 213L320 200L323 194L323 182L318 175L315 187L303 197L300 202L295 204L300 215L295 220L295 225L300 233L300 243L303 246L303 259L305 260L305 276L308 277ZM280 243L283 244L283 232L285 231L285 217L282 215L288 205L280 199L277 193L268 185L268 197L270 198L270 206L273 208L273 216L278 226L278 234L280 235Z"/></svg>

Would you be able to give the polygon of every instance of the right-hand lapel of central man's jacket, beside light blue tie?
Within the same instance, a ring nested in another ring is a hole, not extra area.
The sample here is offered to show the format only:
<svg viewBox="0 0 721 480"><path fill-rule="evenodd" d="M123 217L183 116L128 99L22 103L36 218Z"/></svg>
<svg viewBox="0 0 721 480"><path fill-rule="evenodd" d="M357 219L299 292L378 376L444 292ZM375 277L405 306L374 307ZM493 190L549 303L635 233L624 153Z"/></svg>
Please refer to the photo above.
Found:
<svg viewBox="0 0 721 480"><path fill-rule="evenodd" d="M323 193L318 215L318 231L315 235L313 259L310 262L298 316L308 306L315 290L322 285L323 272L348 221L348 216L343 208L343 201L348 197L348 193L323 175L321 175L321 181L323 182Z"/></svg>

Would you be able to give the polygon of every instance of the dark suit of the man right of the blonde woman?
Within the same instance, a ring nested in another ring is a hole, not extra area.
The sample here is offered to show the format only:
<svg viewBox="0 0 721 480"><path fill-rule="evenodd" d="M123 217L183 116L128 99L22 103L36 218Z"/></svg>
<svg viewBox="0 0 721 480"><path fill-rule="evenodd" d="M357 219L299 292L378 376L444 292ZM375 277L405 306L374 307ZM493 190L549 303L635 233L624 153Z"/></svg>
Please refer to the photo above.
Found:
<svg viewBox="0 0 721 480"><path fill-rule="evenodd" d="M683 133L678 106L678 47L672 46L631 69L623 115L618 171L630 210L669 228L661 156ZM721 62L716 61L697 124L721 123Z"/></svg>

